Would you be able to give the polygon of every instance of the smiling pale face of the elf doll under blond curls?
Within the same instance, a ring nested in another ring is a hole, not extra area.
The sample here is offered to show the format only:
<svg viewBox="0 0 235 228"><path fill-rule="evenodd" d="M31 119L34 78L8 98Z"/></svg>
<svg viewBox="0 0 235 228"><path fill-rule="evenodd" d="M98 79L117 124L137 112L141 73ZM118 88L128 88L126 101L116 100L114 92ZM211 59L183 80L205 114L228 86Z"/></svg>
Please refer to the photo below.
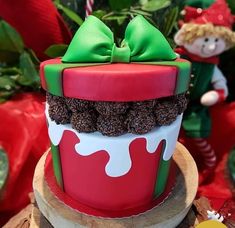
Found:
<svg viewBox="0 0 235 228"><path fill-rule="evenodd" d="M185 43L184 47L190 53L202 58L216 56L226 50L224 39L216 36L203 36L196 38L191 44Z"/></svg>

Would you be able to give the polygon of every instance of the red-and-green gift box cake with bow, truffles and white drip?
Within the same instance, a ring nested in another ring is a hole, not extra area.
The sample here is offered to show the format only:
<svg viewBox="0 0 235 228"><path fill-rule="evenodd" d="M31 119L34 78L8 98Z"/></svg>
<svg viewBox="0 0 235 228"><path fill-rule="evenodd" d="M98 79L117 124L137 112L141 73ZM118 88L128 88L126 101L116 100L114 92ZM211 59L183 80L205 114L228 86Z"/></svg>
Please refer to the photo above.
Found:
<svg viewBox="0 0 235 228"><path fill-rule="evenodd" d="M190 63L142 16L120 47L90 16L62 58L41 64L54 167L47 176L55 175L70 206L123 217L170 194L189 75Z"/></svg>

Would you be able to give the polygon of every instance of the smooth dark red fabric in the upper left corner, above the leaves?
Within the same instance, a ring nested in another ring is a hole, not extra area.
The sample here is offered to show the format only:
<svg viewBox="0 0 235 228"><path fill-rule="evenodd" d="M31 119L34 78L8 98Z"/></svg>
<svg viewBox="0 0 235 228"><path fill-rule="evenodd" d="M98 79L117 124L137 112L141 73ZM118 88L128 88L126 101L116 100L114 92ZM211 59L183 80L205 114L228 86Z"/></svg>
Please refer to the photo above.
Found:
<svg viewBox="0 0 235 228"><path fill-rule="evenodd" d="M0 0L0 17L44 60L52 44L69 43L71 33L51 0Z"/></svg>

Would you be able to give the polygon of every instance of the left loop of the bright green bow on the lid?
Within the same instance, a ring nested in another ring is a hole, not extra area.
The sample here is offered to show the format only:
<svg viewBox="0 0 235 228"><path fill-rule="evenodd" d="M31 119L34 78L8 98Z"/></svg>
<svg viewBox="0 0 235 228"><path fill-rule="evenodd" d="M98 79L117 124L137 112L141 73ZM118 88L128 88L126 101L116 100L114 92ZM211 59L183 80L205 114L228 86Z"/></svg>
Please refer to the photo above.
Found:
<svg viewBox="0 0 235 228"><path fill-rule="evenodd" d="M62 62L109 62L113 44L112 31L98 18L89 16L74 35Z"/></svg>

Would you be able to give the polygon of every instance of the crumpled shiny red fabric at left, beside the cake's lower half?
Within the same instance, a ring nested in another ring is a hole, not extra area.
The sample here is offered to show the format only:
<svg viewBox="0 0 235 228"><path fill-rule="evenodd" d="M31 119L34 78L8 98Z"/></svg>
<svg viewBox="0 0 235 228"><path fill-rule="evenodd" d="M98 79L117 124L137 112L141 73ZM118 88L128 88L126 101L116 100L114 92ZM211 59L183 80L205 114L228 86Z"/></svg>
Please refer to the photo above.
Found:
<svg viewBox="0 0 235 228"><path fill-rule="evenodd" d="M0 105L0 146L7 152L9 176L0 199L0 227L29 203L37 161L49 148L45 97L20 94Z"/></svg>

